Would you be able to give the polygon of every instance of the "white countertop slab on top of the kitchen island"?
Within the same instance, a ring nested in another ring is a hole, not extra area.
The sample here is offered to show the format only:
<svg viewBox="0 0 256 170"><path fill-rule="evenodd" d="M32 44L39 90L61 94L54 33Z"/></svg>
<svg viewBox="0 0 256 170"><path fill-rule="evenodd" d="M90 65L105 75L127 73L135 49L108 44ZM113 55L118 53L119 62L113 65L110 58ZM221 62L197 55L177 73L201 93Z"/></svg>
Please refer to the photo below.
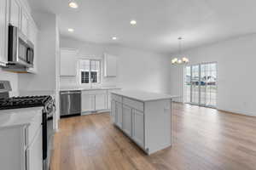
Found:
<svg viewBox="0 0 256 170"><path fill-rule="evenodd" d="M143 102L146 101L154 101L160 99L173 99L177 98L177 95L170 95L170 94L158 94L158 93L151 93L145 91L137 91L137 90L119 90L116 92L111 92L111 94L121 95L131 99L137 99Z"/></svg>

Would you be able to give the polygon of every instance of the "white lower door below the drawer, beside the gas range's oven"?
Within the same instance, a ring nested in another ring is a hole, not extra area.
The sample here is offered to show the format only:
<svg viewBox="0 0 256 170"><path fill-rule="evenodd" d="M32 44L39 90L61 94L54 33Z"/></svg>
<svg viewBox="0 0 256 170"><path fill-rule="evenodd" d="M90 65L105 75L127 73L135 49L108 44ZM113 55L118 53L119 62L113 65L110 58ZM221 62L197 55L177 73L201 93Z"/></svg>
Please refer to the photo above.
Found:
<svg viewBox="0 0 256 170"><path fill-rule="evenodd" d="M26 170L43 170L42 127L26 150Z"/></svg>

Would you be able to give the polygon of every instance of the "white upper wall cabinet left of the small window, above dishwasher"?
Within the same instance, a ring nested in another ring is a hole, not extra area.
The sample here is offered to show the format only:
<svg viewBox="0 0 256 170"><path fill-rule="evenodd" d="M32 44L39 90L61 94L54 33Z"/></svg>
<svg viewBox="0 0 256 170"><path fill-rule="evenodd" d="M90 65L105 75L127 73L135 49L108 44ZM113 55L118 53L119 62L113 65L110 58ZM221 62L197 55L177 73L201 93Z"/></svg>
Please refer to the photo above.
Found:
<svg viewBox="0 0 256 170"><path fill-rule="evenodd" d="M74 77L77 74L78 50L61 48L61 76Z"/></svg>

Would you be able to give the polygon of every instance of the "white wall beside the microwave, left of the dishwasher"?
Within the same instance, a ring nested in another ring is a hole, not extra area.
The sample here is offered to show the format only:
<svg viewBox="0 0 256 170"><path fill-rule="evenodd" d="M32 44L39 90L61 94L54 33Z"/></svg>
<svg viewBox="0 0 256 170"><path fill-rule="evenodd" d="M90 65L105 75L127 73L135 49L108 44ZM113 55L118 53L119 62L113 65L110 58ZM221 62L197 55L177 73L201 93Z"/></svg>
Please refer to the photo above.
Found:
<svg viewBox="0 0 256 170"><path fill-rule="evenodd" d="M55 14L34 14L38 25L38 72L19 74L20 91L55 91Z"/></svg>

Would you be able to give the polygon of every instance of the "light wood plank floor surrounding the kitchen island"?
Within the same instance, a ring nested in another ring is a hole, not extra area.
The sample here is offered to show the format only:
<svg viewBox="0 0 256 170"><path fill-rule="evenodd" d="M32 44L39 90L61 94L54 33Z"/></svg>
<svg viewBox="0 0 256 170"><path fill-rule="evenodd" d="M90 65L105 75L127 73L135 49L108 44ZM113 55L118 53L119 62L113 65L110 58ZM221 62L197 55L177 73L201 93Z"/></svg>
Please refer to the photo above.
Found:
<svg viewBox="0 0 256 170"><path fill-rule="evenodd" d="M61 119L51 170L256 169L256 118L174 104L172 147L147 156L108 113Z"/></svg>

